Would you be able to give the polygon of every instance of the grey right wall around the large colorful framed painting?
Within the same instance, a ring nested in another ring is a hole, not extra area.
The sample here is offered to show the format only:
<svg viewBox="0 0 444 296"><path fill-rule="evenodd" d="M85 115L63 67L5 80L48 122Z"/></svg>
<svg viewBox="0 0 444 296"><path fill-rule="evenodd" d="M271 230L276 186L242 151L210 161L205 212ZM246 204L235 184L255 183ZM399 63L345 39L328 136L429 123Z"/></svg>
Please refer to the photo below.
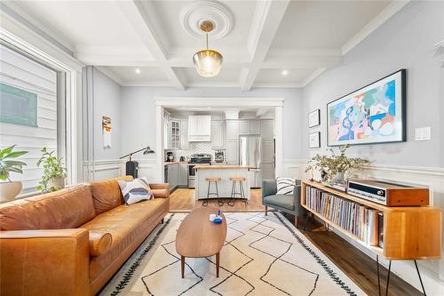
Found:
<svg viewBox="0 0 444 296"><path fill-rule="evenodd" d="M347 53L343 65L315 79L303 90L306 157L327 146L326 104L364 85L407 68L407 142L355 146L350 152L377 164L444 166L444 3L411 2ZM307 128L308 112L321 109L321 127ZM417 127L431 126L432 140L415 141ZM308 133L321 131L321 148L308 149Z"/></svg>

